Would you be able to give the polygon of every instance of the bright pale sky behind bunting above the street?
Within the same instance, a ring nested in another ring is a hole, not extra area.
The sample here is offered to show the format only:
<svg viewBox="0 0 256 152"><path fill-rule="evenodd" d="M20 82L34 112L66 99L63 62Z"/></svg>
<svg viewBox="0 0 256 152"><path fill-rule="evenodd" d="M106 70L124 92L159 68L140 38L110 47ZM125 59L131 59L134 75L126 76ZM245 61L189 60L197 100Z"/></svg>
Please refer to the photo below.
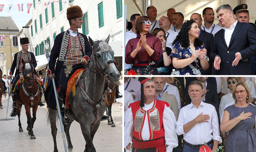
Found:
<svg viewBox="0 0 256 152"><path fill-rule="evenodd" d="M32 18L33 5L30 8L29 14L27 13L27 3L32 2L33 0L0 0L0 4L4 4L3 10L0 12L0 16L11 16L11 18L13 19L13 21L15 22L20 31L22 30L22 26L25 26L28 23L28 21ZM19 11L18 3L23 3L23 12ZM13 4L9 13L7 12L9 9L8 4Z"/></svg>

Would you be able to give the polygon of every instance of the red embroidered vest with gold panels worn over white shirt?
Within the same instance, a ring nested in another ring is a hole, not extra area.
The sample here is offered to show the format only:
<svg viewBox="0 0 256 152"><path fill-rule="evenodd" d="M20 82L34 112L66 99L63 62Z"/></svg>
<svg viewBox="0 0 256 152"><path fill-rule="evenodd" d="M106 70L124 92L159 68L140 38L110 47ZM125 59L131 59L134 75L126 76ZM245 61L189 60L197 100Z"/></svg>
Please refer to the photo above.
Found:
<svg viewBox="0 0 256 152"><path fill-rule="evenodd" d="M137 101L129 105L129 107L131 106L134 124L132 136L142 141L143 139L141 137L141 131L144 123L148 123L150 133L149 140L164 137L163 112L165 104L167 107L169 107L169 103L165 101L155 100L153 107L147 111L143 110L139 106L139 103L140 101ZM148 122L144 122L146 113L148 117Z"/></svg>

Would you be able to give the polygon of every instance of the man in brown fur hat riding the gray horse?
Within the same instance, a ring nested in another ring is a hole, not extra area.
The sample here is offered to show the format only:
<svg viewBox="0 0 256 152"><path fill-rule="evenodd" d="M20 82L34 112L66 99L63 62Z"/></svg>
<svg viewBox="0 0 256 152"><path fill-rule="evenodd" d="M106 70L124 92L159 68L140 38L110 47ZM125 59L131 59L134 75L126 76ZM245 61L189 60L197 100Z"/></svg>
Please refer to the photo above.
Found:
<svg viewBox="0 0 256 152"><path fill-rule="evenodd" d="M68 120L64 116L67 82L77 69L84 68L81 64L82 62L88 64L92 54L92 47L86 35L78 32L78 28L81 28L83 23L83 12L81 8L79 6L67 8L66 16L70 28L57 35L51 51L48 70L49 77L55 77L56 88L58 89L59 87L58 97L64 124L68 123ZM45 99L50 109L56 109L52 81L48 81L47 83Z"/></svg>

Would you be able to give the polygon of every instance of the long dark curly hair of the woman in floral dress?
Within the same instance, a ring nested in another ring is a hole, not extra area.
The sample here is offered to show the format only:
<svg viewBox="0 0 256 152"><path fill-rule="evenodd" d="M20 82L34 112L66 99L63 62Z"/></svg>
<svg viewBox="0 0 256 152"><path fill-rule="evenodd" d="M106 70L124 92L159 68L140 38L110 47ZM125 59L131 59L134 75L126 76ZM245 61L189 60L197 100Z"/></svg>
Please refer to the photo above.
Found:
<svg viewBox="0 0 256 152"><path fill-rule="evenodd" d="M191 29L192 24L195 23L194 20L187 20L185 23L182 24L181 31L177 35L176 39L173 41L172 45L174 45L177 41L181 41L181 46L183 48L189 47L189 30ZM202 41L198 38L194 40L194 46L201 46Z"/></svg>

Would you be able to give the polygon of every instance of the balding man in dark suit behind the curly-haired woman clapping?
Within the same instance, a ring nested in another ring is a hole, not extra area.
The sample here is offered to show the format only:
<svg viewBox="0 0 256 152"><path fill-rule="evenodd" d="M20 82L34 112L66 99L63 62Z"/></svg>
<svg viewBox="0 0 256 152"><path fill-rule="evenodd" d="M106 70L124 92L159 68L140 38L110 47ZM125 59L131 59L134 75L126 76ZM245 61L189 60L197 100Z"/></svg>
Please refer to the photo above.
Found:
<svg viewBox="0 0 256 152"><path fill-rule="evenodd" d="M202 17L198 13L193 13L190 16L190 19L194 20L195 23L198 25L198 28L200 30L199 32L199 40L202 41L202 43L205 45L205 49L207 50L207 56L210 56L210 51L213 47L213 34L210 34L208 32L205 32L204 30L201 29L202 25ZM207 70L203 70L205 75L210 75L211 74L211 69L212 69L212 62L211 60L209 61L209 68Z"/></svg>

